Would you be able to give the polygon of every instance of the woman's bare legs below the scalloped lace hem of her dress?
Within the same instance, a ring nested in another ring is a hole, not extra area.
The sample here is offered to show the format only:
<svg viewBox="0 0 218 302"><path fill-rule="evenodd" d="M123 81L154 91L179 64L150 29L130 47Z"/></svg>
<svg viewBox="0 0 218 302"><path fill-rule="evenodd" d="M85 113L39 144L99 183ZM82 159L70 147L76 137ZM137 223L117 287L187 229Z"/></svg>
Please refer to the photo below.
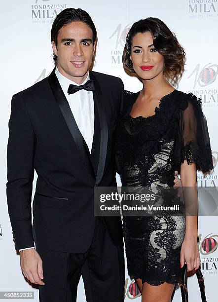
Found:
<svg viewBox="0 0 218 302"><path fill-rule="evenodd" d="M142 302L170 302L174 286L174 284L167 282L158 286L153 286L144 282L142 289Z"/></svg>

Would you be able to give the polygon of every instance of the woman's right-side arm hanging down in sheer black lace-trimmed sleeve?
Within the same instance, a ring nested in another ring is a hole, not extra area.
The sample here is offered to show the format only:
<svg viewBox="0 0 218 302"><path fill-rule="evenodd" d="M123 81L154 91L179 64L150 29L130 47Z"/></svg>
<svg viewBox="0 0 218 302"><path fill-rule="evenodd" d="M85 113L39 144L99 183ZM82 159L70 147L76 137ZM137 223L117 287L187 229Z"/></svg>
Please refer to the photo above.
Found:
<svg viewBox="0 0 218 302"><path fill-rule="evenodd" d="M181 162L181 182L185 205L185 237L181 248L181 267L187 263L188 271L200 266L198 248L198 198L196 168L203 173L213 170L212 152L206 118L201 100L189 93L187 107L182 109L178 142Z"/></svg>

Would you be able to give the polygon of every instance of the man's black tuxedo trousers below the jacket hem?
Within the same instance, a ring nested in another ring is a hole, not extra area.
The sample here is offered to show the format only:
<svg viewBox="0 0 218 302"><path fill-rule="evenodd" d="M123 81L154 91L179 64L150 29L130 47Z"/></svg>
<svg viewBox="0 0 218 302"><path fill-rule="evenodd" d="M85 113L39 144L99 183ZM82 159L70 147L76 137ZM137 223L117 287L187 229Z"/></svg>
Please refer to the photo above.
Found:
<svg viewBox="0 0 218 302"><path fill-rule="evenodd" d="M45 283L39 286L40 302L76 302L81 274L87 302L124 301L123 246L113 244L102 218L96 218L91 246L83 254L37 246L36 250L42 259Z"/></svg>

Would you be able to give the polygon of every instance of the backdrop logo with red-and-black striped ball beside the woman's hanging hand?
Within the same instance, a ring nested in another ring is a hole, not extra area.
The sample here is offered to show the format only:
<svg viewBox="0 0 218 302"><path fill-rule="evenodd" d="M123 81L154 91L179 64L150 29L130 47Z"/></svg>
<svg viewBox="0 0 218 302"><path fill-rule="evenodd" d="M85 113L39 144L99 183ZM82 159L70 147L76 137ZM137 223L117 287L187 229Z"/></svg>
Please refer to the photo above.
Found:
<svg viewBox="0 0 218 302"><path fill-rule="evenodd" d="M199 252L203 257L201 260L201 270L203 274L217 274L218 270L218 234L198 235ZM217 257L216 257L217 256Z"/></svg>

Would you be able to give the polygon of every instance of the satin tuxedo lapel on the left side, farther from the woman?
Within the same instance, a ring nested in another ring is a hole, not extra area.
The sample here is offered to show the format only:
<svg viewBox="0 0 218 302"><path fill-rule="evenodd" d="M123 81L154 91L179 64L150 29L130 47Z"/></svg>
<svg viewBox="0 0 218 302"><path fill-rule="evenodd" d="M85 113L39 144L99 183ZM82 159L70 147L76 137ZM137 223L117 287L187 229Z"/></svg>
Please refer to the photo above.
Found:
<svg viewBox="0 0 218 302"><path fill-rule="evenodd" d="M81 135L81 133L79 131L79 128L76 124L73 113L71 111L70 105L65 97L65 94L61 88L61 85L60 85L54 71L55 71L55 69L52 71L52 73L48 77L51 89L55 95L55 98L60 107L61 113L63 114L64 119L68 125L68 128L71 132L73 140L79 151L79 154L81 155L82 160L85 163L86 168L88 169L89 173L95 179L95 173L93 171L93 167L92 167L92 164L90 161L90 153L87 150L88 147L86 147L86 143L83 139L83 136Z"/></svg>

